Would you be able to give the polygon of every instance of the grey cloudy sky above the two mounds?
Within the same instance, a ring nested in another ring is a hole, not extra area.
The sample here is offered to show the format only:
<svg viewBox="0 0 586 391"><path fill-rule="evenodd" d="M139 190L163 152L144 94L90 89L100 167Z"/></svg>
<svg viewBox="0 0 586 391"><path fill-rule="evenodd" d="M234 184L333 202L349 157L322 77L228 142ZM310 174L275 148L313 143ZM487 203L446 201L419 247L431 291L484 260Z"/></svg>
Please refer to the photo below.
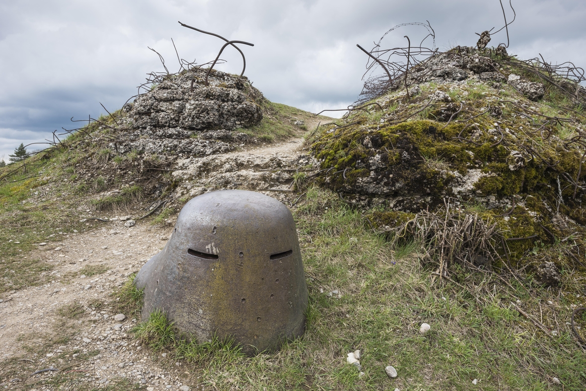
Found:
<svg viewBox="0 0 586 391"><path fill-rule="evenodd" d="M509 53L586 67L584 0L512 4ZM183 59L213 60L223 42L178 20L254 43L242 46L254 86L271 101L312 112L356 101L366 64L356 44L370 49L394 25L429 20L440 50L473 46L475 32L503 25L498 0L0 0L0 159L21 142L75 127L71 116L105 114L100 102L120 108L147 73L163 70L148 46L172 72L179 65L171 38ZM404 46L404 35L415 42L425 32L399 29L383 46ZM504 30L491 44L499 42ZM224 53L220 70L239 73L239 54Z"/></svg>

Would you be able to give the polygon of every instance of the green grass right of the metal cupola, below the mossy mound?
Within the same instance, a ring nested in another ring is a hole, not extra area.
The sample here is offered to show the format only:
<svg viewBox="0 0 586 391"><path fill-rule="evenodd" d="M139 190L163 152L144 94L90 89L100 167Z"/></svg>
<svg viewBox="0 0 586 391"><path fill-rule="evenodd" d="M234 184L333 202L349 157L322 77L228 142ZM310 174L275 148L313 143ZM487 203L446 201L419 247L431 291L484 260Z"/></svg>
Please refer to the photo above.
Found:
<svg viewBox="0 0 586 391"><path fill-rule="evenodd" d="M308 189L295 218L309 289L301 338L250 358L225 342L176 337L161 312L138 326L137 338L191 362L216 389L469 390L478 379L482 390L547 390L553 377L565 390L584 389L586 356L564 325L571 315L564 296L536 286L528 293L514 280L512 288L491 272L458 265L450 270L458 284L440 281L421 265L418 243L391 247L360 211L319 188ZM340 299L328 296L335 289ZM558 335L547 337L520 315L510 304L517 298ZM423 322L431 325L425 335L418 331ZM586 326L586 315L577 322ZM363 378L345 362L355 349L363 354ZM387 365L396 379L387 378Z"/></svg>

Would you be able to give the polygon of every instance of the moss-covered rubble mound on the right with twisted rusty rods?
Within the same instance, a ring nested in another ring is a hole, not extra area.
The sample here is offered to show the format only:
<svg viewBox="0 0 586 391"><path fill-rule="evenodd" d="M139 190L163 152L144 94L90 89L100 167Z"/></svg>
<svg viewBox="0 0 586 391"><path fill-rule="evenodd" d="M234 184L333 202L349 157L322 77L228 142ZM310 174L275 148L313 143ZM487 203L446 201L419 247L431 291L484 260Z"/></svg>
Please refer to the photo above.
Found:
<svg viewBox="0 0 586 391"><path fill-rule="evenodd" d="M449 245L470 263L519 259L565 238L568 259L581 265L584 88L502 48L472 47L434 53L384 83L311 136L319 183L377 207L372 224L396 234L421 232L422 213L478 217L496 228L486 229L491 238L478 248ZM425 232L425 241L435 235ZM454 240L466 243L466 235Z"/></svg>

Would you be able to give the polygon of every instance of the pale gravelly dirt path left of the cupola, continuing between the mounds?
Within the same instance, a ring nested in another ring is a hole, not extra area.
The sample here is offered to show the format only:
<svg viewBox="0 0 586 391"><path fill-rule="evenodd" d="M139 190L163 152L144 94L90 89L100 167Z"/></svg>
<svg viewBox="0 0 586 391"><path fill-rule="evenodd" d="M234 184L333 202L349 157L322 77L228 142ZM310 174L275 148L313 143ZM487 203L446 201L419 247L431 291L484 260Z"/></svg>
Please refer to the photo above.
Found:
<svg viewBox="0 0 586 391"><path fill-rule="evenodd" d="M295 159L302 143L302 138L293 138L204 159L224 166L239 156L253 161L277 155ZM206 173L215 176L213 170ZM49 284L0 294L0 366L11 373L0 379L0 387L73 390L130 382L148 391L198 389L196 373L139 346L129 333L136 317L123 314L123 321L115 320L118 314L112 307L113 291L163 248L172 227L138 221L127 228L125 221L111 218L93 231L63 232L62 241L28 255L54 266L43 272L53 277ZM61 371L32 375L50 368ZM75 371L76 376L63 379L64 371Z"/></svg>

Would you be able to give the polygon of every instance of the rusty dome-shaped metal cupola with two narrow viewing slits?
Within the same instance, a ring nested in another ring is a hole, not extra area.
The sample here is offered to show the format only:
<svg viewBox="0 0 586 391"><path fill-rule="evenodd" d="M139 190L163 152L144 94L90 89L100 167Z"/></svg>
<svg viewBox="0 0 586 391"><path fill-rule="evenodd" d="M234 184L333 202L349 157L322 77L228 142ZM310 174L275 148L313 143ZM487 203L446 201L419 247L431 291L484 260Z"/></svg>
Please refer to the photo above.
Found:
<svg viewBox="0 0 586 391"><path fill-rule="evenodd" d="M180 211L165 248L138 272L143 320L161 309L198 342L274 351L305 328L308 292L295 221L260 193L213 191Z"/></svg>

